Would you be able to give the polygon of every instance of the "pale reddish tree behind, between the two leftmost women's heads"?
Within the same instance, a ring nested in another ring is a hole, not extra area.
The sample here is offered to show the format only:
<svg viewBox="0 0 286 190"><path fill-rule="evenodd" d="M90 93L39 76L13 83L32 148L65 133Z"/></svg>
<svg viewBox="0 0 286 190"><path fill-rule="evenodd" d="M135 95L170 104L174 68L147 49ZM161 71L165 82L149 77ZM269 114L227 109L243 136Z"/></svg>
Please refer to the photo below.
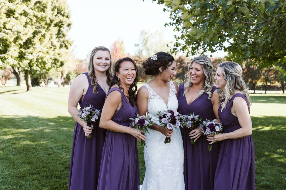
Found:
<svg viewBox="0 0 286 190"><path fill-rule="evenodd" d="M110 53L113 63L120 58L128 56L128 53L125 52L124 42L121 39L117 39L113 42L110 48Z"/></svg>

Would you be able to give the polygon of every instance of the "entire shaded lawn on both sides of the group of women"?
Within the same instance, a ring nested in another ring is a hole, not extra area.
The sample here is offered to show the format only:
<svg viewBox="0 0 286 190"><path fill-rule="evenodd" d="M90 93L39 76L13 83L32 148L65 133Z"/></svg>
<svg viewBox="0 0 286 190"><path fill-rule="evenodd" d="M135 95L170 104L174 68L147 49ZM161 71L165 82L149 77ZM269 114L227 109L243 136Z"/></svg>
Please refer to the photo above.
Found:
<svg viewBox="0 0 286 190"><path fill-rule="evenodd" d="M256 189L283 189L286 117L252 117ZM0 189L67 189L74 120L0 115ZM140 180L143 147L138 145ZM19 180L21 179L21 180Z"/></svg>

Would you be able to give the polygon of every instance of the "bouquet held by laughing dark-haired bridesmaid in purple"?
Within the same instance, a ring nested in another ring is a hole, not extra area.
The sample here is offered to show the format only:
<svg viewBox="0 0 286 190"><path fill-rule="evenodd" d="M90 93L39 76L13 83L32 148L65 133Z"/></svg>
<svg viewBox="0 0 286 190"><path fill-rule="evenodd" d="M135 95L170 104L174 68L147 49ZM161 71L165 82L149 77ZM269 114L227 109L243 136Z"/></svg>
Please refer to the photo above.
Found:
<svg viewBox="0 0 286 190"><path fill-rule="evenodd" d="M136 128L137 130L144 131L145 133L148 132L148 127L152 126L151 118L148 116L139 116L137 114L136 118L130 118L133 122L131 123L131 127ZM142 146L147 146L144 140L141 140Z"/></svg>

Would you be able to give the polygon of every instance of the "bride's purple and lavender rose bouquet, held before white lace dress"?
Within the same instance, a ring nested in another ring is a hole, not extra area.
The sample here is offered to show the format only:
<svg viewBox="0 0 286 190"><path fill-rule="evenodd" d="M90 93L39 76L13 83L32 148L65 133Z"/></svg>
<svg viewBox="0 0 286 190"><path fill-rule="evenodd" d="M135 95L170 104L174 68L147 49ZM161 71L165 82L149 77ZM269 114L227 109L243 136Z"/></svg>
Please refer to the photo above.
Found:
<svg viewBox="0 0 286 190"><path fill-rule="evenodd" d="M164 126L165 129L173 129L174 127L176 129L179 129L181 126L180 123L180 113L179 112L174 112L173 110L165 110L165 111L159 111L156 113L158 116L160 125ZM170 143L171 142L171 137L166 137L164 143Z"/></svg>

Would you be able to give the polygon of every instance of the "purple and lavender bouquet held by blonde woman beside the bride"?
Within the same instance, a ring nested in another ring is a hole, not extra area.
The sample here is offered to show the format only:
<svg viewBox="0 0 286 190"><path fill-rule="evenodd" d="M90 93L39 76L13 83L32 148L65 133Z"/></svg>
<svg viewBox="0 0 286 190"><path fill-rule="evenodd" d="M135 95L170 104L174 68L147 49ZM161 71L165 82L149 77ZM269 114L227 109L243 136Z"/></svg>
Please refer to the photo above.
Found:
<svg viewBox="0 0 286 190"><path fill-rule="evenodd" d="M191 130L201 126L200 123L203 119L199 118L199 115L195 115L195 113L190 113L190 115L181 115L180 116L180 122L181 127L187 127ZM195 144L195 139L191 139L192 145Z"/></svg>

